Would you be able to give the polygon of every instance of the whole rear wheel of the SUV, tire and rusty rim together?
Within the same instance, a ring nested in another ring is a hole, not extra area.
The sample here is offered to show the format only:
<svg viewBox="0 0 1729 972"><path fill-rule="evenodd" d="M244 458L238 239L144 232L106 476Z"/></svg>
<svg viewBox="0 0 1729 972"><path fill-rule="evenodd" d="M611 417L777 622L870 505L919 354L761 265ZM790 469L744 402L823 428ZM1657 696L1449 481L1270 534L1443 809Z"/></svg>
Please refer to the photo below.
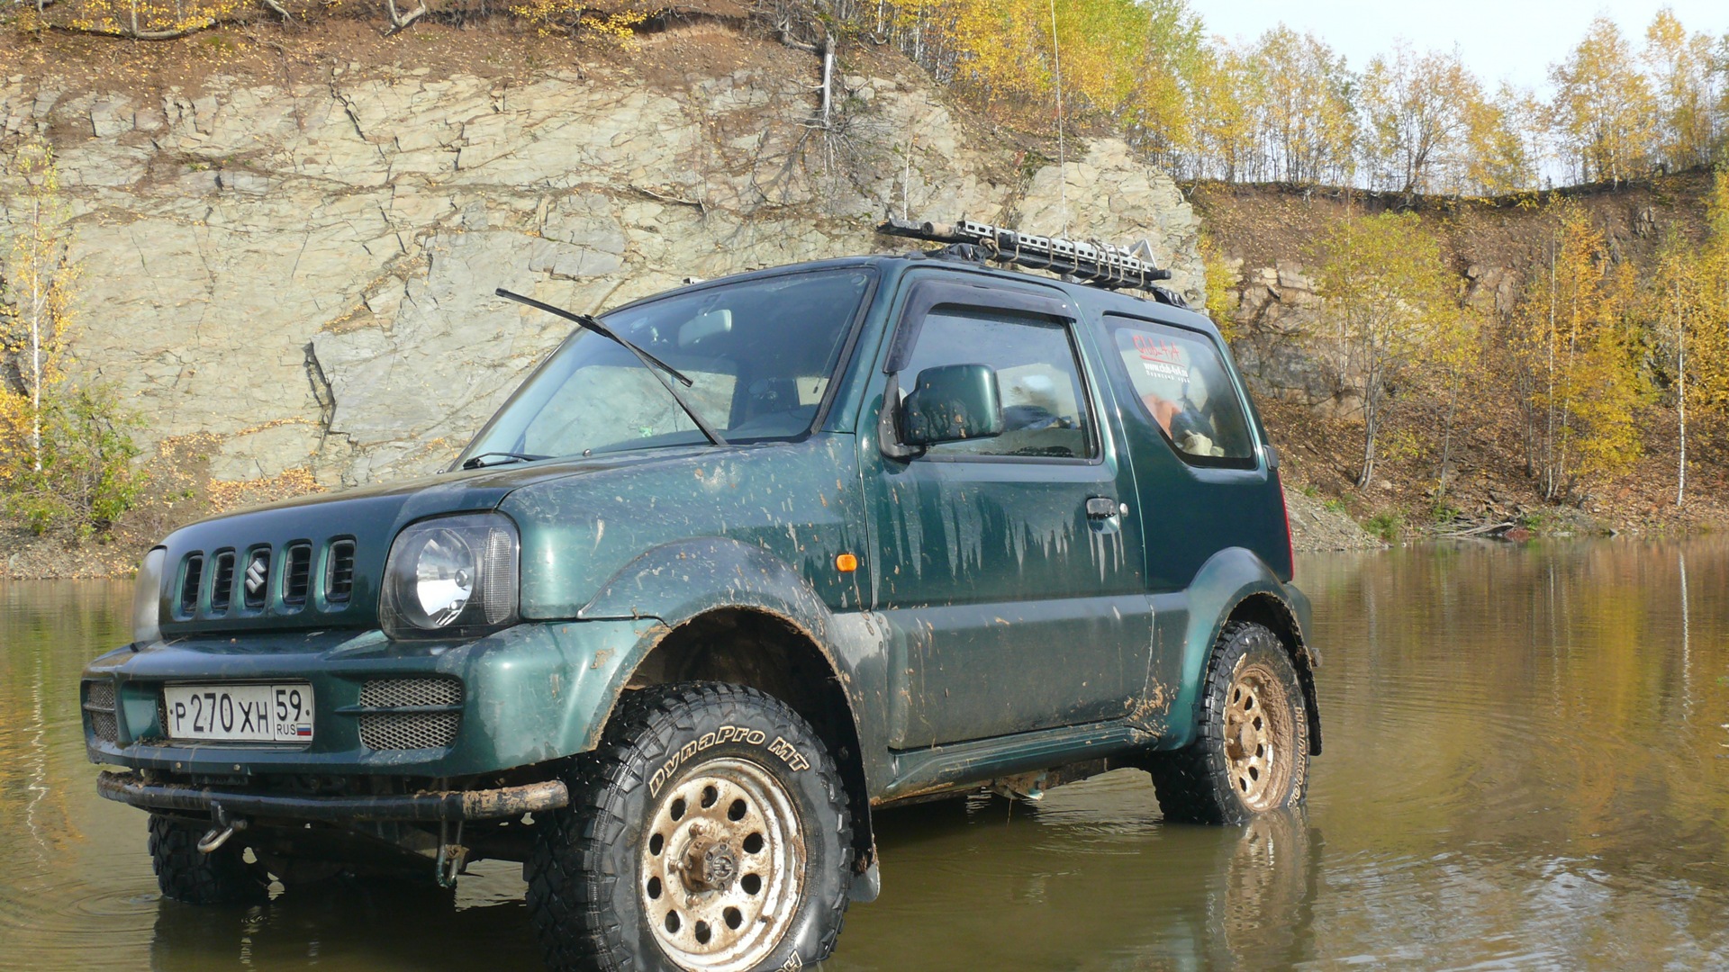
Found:
<svg viewBox="0 0 1729 972"><path fill-rule="evenodd" d="M1202 683L1195 740L1155 752L1146 768L1172 822L1247 823L1302 804L1309 711L1278 635L1245 621L1224 626Z"/></svg>

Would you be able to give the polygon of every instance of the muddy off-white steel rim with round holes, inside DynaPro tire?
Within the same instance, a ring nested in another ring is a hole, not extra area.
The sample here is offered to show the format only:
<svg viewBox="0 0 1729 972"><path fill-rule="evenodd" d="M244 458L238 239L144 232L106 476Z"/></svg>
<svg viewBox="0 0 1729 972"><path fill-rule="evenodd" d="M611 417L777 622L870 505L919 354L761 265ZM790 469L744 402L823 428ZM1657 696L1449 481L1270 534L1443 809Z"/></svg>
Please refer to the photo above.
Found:
<svg viewBox="0 0 1729 972"><path fill-rule="evenodd" d="M648 815L643 920L679 969L756 969L799 910L804 860L787 787L749 759L712 759L667 787Z"/></svg>

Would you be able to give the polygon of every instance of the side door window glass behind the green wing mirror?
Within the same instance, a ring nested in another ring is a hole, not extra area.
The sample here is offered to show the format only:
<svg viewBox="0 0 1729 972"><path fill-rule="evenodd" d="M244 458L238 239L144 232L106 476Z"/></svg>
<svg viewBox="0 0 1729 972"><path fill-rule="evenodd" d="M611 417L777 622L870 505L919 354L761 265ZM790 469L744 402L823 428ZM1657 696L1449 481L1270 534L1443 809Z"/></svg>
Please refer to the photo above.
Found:
<svg viewBox="0 0 1729 972"><path fill-rule="evenodd" d="M930 457L1091 458L1093 425L1069 327L1006 311L935 308L901 370L901 394L937 365L989 365L1003 396L1003 434L930 446Z"/></svg>

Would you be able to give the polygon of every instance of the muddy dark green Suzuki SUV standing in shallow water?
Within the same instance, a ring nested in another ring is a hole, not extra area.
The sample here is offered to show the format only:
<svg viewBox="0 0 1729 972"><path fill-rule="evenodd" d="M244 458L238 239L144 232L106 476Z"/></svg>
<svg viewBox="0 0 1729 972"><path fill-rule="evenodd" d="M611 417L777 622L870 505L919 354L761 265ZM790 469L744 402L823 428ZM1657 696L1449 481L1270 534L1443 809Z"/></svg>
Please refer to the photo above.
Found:
<svg viewBox="0 0 1729 972"><path fill-rule="evenodd" d="M81 683L163 894L494 858L553 969L794 969L896 801L1300 803L1309 602L1226 346L1127 251L986 230L603 318L501 291L579 327L451 469L171 533ZM986 266L1039 247L1108 285Z"/></svg>

